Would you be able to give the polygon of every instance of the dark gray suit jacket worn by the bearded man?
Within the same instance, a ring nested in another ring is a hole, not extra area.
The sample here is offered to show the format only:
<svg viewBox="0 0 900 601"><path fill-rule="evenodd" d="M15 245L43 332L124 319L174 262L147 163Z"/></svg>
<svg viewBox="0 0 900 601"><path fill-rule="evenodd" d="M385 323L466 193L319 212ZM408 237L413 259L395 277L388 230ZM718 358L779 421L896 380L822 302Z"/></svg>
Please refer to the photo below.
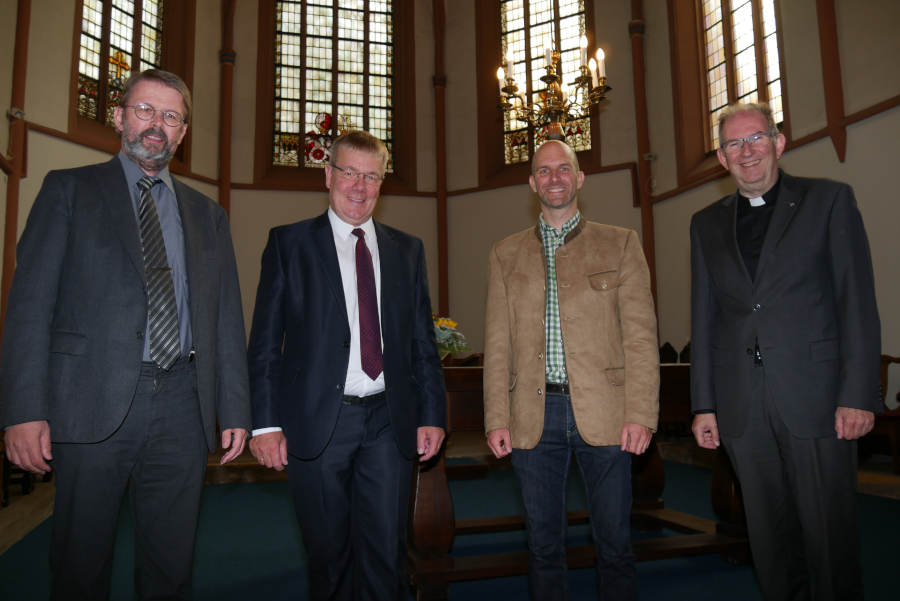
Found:
<svg viewBox="0 0 900 601"><path fill-rule="evenodd" d="M197 391L210 450L249 428L237 269L225 212L173 179L184 228ZM97 442L125 419L147 296L118 158L52 171L17 248L0 357L0 426L48 420L54 442Z"/></svg>

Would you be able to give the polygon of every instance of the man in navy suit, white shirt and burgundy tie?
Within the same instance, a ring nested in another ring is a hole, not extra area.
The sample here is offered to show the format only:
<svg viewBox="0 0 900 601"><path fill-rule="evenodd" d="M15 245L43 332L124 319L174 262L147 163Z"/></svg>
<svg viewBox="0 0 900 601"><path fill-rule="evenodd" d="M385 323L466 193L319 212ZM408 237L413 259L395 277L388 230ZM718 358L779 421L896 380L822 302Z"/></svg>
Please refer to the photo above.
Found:
<svg viewBox="0 0 900 601"><path fill-rule="evenodd" d="M338 138L328 211L274 228L262 257L250 449L287 467L315 600L408 598L413 459L444 438L422 242L372 219L387 159L368 133Z"/></svg>

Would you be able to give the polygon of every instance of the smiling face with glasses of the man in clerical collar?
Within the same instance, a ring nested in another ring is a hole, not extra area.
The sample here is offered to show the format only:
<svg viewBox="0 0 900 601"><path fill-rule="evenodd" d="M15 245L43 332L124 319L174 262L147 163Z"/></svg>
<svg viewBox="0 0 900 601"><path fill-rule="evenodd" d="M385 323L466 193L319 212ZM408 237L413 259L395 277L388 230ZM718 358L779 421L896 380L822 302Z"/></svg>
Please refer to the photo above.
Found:
<svg viewBox="0 0 900 601"><path fill-rule="evenodd" d="M723 140L745 138L755 133L766 133L769 125L766 118L755 110L736 113L722 127ZM785 139L782 134L767 137L753 146L744 142L735 153L726 153L719 148L716 154L723 167L728 169L738 190L747 198L762 196L778 181L778 159L784 152Z"/></svg>

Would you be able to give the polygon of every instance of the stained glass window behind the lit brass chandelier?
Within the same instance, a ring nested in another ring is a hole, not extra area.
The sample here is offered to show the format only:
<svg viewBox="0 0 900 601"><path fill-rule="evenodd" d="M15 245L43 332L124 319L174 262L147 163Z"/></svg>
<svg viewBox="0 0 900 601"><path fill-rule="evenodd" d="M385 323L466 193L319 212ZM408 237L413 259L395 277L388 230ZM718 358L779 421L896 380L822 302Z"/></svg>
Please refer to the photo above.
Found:
<svg viewBox="0 0 900 601"><path fill-rule="evenodd" d="M560 51L563 89L579 72L579 40L584 34L584 0L500 0L501 48L513 64L513 77L530 102L540 99L546 89L545 47ZM526 121L503 116L505 163L524 163L531 149L546 138L543 128L531 128ZM576 151L591 148L591 119L569 121L566 142ZM529 144L531 142L531 144Z"/></svg>

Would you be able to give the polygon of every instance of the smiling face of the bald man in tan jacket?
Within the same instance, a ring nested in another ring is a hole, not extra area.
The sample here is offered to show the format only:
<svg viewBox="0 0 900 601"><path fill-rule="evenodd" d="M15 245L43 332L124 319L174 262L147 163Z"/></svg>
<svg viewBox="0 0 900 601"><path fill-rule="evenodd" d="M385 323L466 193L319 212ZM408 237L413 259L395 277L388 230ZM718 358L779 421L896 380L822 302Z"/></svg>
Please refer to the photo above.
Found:
<svg viewBox="0 0 900 601"><path fill-rule="evenodd" d="M572 149L558 141L545 142L531 164L528 183L541 201L544 219L555 227L568 221L578 210L575 199L584 183Z"/></svg>

